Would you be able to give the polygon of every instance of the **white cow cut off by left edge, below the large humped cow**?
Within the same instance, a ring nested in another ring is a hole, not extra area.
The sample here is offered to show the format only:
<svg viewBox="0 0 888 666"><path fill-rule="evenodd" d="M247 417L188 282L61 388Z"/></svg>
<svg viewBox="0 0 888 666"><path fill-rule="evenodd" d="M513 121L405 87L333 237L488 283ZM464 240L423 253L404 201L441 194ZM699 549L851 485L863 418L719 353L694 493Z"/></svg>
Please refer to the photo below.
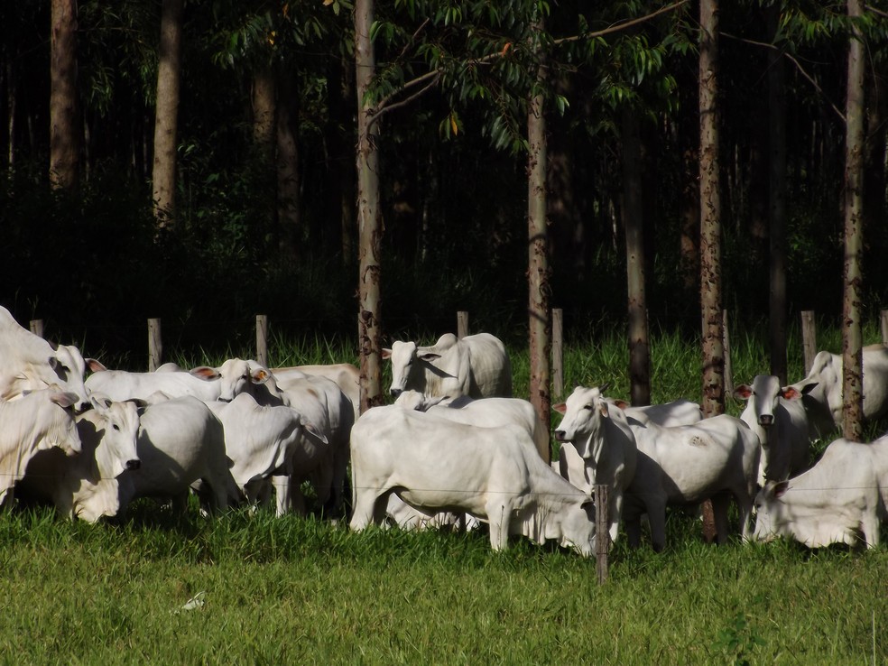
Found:
<svg viewBox="0 0 888 666"><path fill-rule="evenodd" d="M80 439L69 409L75 393L43 389L19 400L0 402L0 506L10 506L15 482L23 478L38 451L58 447L66 455L80 452Z"/></svg>

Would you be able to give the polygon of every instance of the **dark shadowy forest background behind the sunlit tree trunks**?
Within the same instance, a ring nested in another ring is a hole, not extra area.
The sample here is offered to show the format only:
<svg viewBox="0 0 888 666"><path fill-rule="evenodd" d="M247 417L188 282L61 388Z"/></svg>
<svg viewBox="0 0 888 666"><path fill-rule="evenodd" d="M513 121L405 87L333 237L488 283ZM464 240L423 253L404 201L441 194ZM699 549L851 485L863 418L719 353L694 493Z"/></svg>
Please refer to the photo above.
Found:
<svg viewBox="0 0 888 666"><path fill-rule="evenodd" d="M595 5L550 5L550 32L604 27L661 6ZM419 22L411 7L419 11L413 3L377 5L383 78L402 52L397 31ZM867 5L864 267L872 312L888 304L886 9ZM698 334L695 11L689 4L596 40L583 58L566 55L547 79L563 102L547 113L550 303L564 310L568 335L624 325L627 109L639 118L643 143L643 187L629 196L643 201L649 319ZM178 212L166 226L157 223L151 187L160 12L149 0L79 3L79 182L60 189L48 169L51 4L0 5L0 304L24 325L44 319L49 338L75 342L88 356L143 349L145 320L155 317L170 352L249 345L260 313L282 334L354 336L350 5L184 4ZM844 13L842 4L804 2L723 8L724 304L735 321L768 315L767 77L775 49L787 54L790 315L840 316ZM385 26L394 36L386 39ZM289 229L274 163L255 140L254 86L269 63L278 113L287 112L295 137ZM526 155L509 139L507 114L486 106L497 90L486 93L484 104L469 96L458 106L431 90L381 121L387 337L437 336L455 328L457 310L468 310L473 330L526 338Z"/></svg>

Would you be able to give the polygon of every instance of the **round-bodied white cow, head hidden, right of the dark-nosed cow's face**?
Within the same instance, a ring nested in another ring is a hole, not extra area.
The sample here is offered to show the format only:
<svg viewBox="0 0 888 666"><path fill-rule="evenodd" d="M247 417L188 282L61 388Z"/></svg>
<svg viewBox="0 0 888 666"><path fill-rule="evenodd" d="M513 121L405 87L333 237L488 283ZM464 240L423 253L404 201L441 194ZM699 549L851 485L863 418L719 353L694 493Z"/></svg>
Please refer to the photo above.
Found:
<svg viewBox="0 0 888 666"><path fill-rule="evenodd" d="M194 396L149 405L140 418L137 449L142 466L116 477L121 513L137 497L171 499L181 512L199 480L210 511L242 499L228 469L222 423Z"/></svg>

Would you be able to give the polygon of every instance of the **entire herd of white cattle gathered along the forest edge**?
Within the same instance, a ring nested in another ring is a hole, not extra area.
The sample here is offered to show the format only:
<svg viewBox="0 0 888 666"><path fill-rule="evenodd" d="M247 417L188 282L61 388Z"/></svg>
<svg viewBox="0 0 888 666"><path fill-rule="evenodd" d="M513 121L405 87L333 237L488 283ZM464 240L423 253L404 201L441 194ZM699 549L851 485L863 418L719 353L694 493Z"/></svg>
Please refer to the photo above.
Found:
<svg viewBox="0 0 888 666"><path fill-rule="evenodd" d="M551 463L550 429L511 397L494 336L395 342L383 357L394 401L360 413L354 365L108 370L0 307L0 505L51 504L97 522L139 497L183 510L196 493L208 513L274 501L280 515L306 511L308 484L326 515L350 511L355 531L486 523L496 550L521 534L589 556L592 492L604 485L611 542L622 523L638 545L646 515L661 550L667 506L704 500L726 541L733 497L745 540L879 543L888 436L837 439L809 468L812 439L841 420L840 356L820 352L797 384L758 375L739 386L740 418L703 419L686 400L634 407L607 397L606 384L578 387L554 406L563 416ZM864 352L864 411L888 414L883 346Z"/></svg>

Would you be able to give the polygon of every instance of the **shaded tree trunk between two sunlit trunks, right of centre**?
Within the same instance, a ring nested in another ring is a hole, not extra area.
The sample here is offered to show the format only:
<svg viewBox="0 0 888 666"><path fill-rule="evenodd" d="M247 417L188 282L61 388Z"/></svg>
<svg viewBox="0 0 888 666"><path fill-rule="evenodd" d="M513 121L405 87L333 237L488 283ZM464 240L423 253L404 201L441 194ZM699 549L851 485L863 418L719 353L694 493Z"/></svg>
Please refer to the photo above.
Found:
<svg viewBox="0 0 888 666"><path fill-rule="evenodd" d="M623 226L629 295L629 381L634 405L651 404L651 347L644 290L642 143L638 116L623 111Z"/></svg>

